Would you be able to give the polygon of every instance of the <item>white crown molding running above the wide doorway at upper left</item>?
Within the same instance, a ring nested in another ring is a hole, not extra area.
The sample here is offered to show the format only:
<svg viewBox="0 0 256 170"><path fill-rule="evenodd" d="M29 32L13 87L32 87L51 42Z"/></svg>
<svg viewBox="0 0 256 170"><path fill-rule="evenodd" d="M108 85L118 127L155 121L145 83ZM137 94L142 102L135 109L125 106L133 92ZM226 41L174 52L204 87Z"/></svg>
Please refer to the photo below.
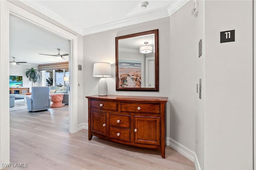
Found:
<svg viewBox="0 0 256 170"><path fill-rule="evenodd" d="M41 4L38 1L30 1L30 0L23 0L20 2L22 2L23 4L37 10L38 12L52 18L53 20L55 20L56 22L59 22L60 24L70 28L71 30L77 32L78 34L82 35L82 29L78 28L76 26L74 26L74 24L71 24L70 22L68 22L67 20L65 20L64 18L58 16L57 14L55 14L54 12L48 10L43 4Z"/></svg>

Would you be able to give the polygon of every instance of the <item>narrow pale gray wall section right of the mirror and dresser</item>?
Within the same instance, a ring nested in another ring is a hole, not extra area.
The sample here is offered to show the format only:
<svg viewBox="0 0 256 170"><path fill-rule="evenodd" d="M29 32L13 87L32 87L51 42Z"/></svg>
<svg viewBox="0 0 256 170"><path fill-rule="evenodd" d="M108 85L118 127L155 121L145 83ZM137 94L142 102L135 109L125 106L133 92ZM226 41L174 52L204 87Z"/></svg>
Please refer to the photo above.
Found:
<svg viewBox="0 0 256 170"><path fill-rule="evenodd" d="M170 16L170 89L171 135L195 151L196 49L195 22L190 14L192 1ZM161 49L159 49L160 51Z"/></svg>

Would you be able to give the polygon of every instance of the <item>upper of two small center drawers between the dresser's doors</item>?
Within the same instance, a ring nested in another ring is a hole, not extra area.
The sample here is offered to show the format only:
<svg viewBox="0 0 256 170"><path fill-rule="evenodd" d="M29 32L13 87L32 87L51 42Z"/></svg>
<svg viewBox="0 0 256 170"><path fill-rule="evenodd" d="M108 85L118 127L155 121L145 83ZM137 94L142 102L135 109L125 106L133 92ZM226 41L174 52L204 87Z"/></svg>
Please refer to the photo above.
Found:
<svg viewBox="0 0 256 170"><path fill-rule="evenodd" d="M130 128L130 115L109 114L109 125L112 127Z"/></svg>

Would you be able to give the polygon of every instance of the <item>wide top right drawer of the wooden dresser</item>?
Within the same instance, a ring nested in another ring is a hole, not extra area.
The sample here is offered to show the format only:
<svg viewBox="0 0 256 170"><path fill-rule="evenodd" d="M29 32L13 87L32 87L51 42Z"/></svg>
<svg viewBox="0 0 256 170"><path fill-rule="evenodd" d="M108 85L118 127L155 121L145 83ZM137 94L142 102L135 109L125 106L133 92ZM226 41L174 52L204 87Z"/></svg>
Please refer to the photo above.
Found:
<svg viewBox="0 0 256 170"><path fill-rule="evenodd" d="M160 114L160 104L158 103L124 103L121 102L122 112L135 113L158 113Z"/></svg>

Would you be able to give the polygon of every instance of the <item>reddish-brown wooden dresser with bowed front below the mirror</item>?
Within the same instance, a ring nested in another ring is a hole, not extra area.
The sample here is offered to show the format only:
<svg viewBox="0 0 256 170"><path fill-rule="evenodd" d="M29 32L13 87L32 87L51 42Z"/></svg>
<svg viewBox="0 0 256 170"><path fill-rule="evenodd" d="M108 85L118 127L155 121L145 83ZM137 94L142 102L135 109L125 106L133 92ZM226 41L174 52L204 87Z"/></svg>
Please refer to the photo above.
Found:
<svg viewBox="0 0 256 170"><path fill-rule="evenodd" d="M88 134L112 142L157 148L165 158L167 97L87 96Z"/></svg>

